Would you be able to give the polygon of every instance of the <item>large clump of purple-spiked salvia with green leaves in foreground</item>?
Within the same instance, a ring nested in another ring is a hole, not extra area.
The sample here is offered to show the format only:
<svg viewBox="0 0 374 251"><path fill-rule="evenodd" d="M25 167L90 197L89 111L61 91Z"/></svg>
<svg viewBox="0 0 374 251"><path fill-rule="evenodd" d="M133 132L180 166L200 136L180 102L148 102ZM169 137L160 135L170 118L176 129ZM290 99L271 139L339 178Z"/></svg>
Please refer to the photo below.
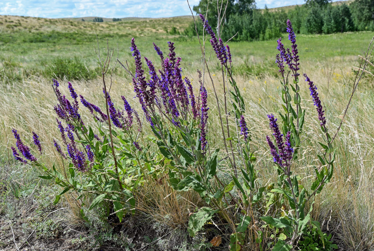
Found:
<svg viewBox="0 0 374 251"><path fill-rule="evenodd" d="M78 199L82 199L81 213L86 220L87 210L104 208L106 217L116 214L122 221L126 213L134 213L134 190L147 180L166 176L168 184L175 190L194 190L205 201L205 207L190 215L187 230L191 237L216 214L229 226L230 250L241 250L248 240L256 242L257 247L262 249L260 219L281 229L286 236L285 240L276 242L273 250L291 250L310 224L318 229L323 242L324 235L319 223L311 219L310 213L316 194L331 180L335 150L316 85L305 73L305 84L299 81L299 55L291 22L287 21L291 49L286 49L279 38L279 53L276 55L284 112L278 114L281 120L276 118L278 115L267 114L271 134L264 137L264 144L269 145L272 162L278 172L278 186L271 192L277 194L282 204L288 205L288 209L282 208L282 216L274 218L261 217L254 212L254 208L263 203L266 188L261 186L264 184L256 176L256 157L254 149L251 149L251 132L245 120L248 111L234 80L230 47L215 34L201 14L200 19L222 71L223 102L218 100L211 78L220 118L221 151L209 144L209 108L212 104L209 104L204 81L205 72L210 74L205 59L203 73L197 70L198 81L193 84L191 78L182 74L182 59L177 56L174 43L168 42L167 52L153 44L161 65L160 69L156 69L148 58L142 58L132 38L130 50L135 72L122 64L118 56L114 61L114 49L107 47L107 53L102 58L97 47L103 84L102 99L105 101L103 107L78 94L71 83L67 84L64 94L60 83L53 80L56 127L59 130L53 144L62 159L61 163L68 163L67 166L49 167L44 164L43 147L37 133L32 133L37 151L31 151L30 146L13 129L16 148L12 147L12 151L15 159L41 168L44 175L40 177L54 180L62 187L55 203L66 192L77 193ZM117 63L132 78L136 100L141 107L139 112L131 107L125 96L121 96L122 104L115 104L112 100L111 77ZM316 175L310 187L300 185L300 178L294 172L302 137L306 137L303 134L306 111L300 105L300 89L306 87L309 87L316 107L318 126L324 139L319 142L321 154L317 157L320 163L315 168ZM91 114L91 120L85 121L81 116L80 109L83 107ZM229 114L233 114L236 121L234 128L229 123ZM151 131L151 135L147 135L147 131ZM221 168L220 160L223 159L227 159L233 170L230 180L221 180L217 176ZM156 168L158 166L162 166L163 170Z"/></svg>

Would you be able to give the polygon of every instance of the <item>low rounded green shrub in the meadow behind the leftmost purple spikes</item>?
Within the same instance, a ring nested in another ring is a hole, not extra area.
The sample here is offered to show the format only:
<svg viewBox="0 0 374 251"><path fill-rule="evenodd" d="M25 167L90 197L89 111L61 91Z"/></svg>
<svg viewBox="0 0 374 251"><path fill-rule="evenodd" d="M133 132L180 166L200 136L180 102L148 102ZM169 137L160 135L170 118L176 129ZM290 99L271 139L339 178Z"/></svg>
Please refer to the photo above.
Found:
<svg viewBox="0 0 374 251"><path fill-rule="evenodd" d="M66 77L71 80L84 79L89 80L97 75L94 70L89 69L77 57L71 58L55 58L50 66L45 69L44 74L49 78L63 79Z"/></svg>

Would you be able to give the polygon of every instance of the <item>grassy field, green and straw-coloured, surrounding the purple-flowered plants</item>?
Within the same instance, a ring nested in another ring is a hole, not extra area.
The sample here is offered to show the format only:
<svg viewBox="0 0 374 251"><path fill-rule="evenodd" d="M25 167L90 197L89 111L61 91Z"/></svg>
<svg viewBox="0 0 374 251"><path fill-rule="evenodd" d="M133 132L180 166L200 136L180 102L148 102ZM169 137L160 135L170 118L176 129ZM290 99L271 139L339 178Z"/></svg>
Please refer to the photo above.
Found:
<svg viewBox="0 0 374 251"><path fill-rule="evenodd" d="M70 81L77 93L104 107L101 74L95 54L96 35L101 52L105 52L107 39L109 48L114 48L115 57L118 46L119 61L127 61L131 71L135 69L129 49L132 37L141 55L153 61L157 69L160 62L152 43L166 52L167 41L174 41L177 56L182 58L183 75L189 76L193 86L197 87L196 70L202 68L197 38L169 34L172 27L183 31L192 20L191 16L182 16L94 23L88 22L89 19L83 22L80 19L0 16L0 250L224 250L227 247L229 237L224 234L220 247L209 246L217 234L215 223L206 224L206 231L196 238L188 237L185 227L188 212L195 210L196 204L204 205L197 193L190 192L190 200L181 202L176 199L181 195L166 182L144 183L137 195L135 216L124 217L121 224L110 224L92 215L92 225L89 225L80 217L81 205L74 199L74 193L63 196L57 205L53 205L60 188L38 177L43 175L38 168L16 162L10 149L15 145L12 128L26 137L28 143L32 142L31 131L35 130L46 145L45 163L52 165L56 162L61 169L65 168L52 142L59 133L53 111L56 96L51 88L51 78L61 69L65 70L64 74L74 70L64 64L66 61L77 62L79 67L83 65L77 80L57 75L61 90L67 94L67 82ZM332 135L355 83L352 66L359 66L358 55L365 55L373 36L373 32L297 35L301 72L306 72L318 86ZM288 44L288 34L282 37ZM223 105L221 65L209 42L206 43L212 81L219 103ZM247 107L245 119L252 133L251 147L257 156L255 170L260 183L270 185L276 182L277 174L265 138L271 134L266 114L283 112L282 86L275 63L277 42L229 42L229 45L234 78ZM373 70L372 66L368 68L374 73ZM213 87L208 77L205 82L210 107L209 144L212 149L223 149ZM313 165L317 161L321 135L308 86L304 81L300 82L301 107L306 109L309 123L304 126L301 157L293 168L300 176L300 184L306 185L313 182ZM358 85L334 142L337 149L334 175L316 197L312 212L314 220L325 222L322 230L332 234L332 241L341 250L374 249L373 84L372 75L366 74ZM135 94L131 78L118 65L114 70L110 95L117 106L120 96L124 95L133 107L141 111L136 99L132 99ZM88 111L81 110L83 117L90 116ZM230 125L234 125L233 115L228 115L228 118ZM145 134L152 134L149 128L144 130ZM142 140L147 140L147 137ZM232 170L228 163L222 163L220 175L230 175Z"/></svg>

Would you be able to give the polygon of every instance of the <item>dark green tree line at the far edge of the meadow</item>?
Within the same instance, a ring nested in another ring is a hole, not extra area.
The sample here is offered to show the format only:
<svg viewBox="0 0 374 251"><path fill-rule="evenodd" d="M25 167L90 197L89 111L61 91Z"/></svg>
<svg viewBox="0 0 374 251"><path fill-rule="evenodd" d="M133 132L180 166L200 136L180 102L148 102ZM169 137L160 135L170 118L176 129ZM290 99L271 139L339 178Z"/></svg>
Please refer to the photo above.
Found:
<svg viewBox="0 0 374 251"><path fill-rule="evenodd" d="M374 31L374 0L354 0L349 4L332 4L328 0L306 0L306 3L285 11L257 9L254 0L221 0L226 6L221 16L224 40L236 41L269 40L279 38L286 31L285 21L290 19L294 31L299 34L331 34L347 31ZM221 2L220 2L221 3ZM207 8L208 6L208 8ZM196 13L206 14L209 24L217 27L217 1L200 0L193 7ZM197 24L202 32L202 24ZM194 24L184 31L185 35L196 35Z"/></svg>

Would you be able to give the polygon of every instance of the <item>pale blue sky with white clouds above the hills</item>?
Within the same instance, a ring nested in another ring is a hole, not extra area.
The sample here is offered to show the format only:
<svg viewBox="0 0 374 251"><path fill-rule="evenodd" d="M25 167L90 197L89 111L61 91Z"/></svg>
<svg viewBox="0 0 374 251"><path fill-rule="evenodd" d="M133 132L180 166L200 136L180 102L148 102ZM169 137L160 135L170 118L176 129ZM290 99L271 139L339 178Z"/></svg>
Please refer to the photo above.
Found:
<svg viewBox="0 0 374 251"><path fill-rule="evenodd" d="M105 2L105 3L103 3ZM189 0L196 5L199 0ZM258 8L303 4L304 0L257 0ZM42 18L68 18L100 16L170 17L190 15L187 0L0 0L0 15L34 16Z"/></svg>

